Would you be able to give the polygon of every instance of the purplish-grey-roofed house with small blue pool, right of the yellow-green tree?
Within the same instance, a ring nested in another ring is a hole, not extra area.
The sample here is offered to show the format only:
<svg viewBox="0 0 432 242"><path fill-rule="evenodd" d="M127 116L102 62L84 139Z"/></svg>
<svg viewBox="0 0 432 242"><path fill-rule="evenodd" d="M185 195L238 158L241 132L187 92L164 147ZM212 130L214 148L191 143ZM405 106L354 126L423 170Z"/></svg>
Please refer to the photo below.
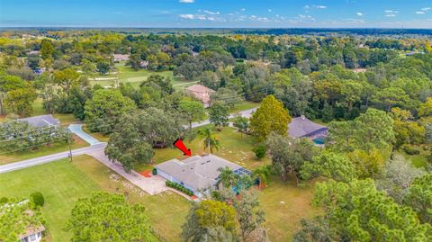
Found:
<svg viewBox="0 0 432 242"><path fill-rule="evenodd" d="M309 138L317 144L322 144L322 139L327 137L328 128L308 120L304 115L293 118L288 124L288 134L293 138Z"/></svg>

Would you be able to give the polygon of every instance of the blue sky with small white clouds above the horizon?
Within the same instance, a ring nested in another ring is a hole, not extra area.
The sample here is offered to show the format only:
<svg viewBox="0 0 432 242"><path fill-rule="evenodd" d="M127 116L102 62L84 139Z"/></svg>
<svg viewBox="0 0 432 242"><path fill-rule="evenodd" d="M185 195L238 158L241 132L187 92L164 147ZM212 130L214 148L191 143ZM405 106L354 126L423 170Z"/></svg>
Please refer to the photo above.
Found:
<svg viewBox="0 0 432 242"><path fill-rule="evenodd" d="M0 27L432 29L432 0L0 0Z"/></svg>

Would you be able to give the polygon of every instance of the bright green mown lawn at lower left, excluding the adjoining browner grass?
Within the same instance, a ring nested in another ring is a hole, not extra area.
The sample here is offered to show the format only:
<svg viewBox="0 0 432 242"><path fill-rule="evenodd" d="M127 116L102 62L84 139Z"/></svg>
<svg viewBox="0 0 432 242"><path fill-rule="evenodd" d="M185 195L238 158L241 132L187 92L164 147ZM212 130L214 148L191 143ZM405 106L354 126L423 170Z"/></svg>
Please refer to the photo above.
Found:
<svg viewBox="0 0 432 242"><path fill-rule="evenodd" d="M70 234L63 229L76 200L99 190L96 183L67 160L2 174L0 184L0 197L28 198L33 192L45 196L43 215L53 242L70 240Z"/></svg>

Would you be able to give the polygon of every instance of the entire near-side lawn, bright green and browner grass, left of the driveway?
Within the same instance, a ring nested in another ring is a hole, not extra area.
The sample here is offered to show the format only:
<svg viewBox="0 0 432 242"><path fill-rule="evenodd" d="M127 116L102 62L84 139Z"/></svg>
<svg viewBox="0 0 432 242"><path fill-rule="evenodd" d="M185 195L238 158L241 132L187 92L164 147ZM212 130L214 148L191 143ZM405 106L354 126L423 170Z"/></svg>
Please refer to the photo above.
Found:
<svg viewBox="0 0 432 242"><path fill-rule="evenodd" d="M78 198L94 191L124 193L130 202L146 206L153 228L168 241L181 240L180 228L189 208L189 203L175 193L150 196L141 192L86 156L76 157L73 163L62 160L3 174L0 184L0 197L27 198L35 191L44 194L43 214L53 242L70 240L64 231L70 211Z"/></svg>

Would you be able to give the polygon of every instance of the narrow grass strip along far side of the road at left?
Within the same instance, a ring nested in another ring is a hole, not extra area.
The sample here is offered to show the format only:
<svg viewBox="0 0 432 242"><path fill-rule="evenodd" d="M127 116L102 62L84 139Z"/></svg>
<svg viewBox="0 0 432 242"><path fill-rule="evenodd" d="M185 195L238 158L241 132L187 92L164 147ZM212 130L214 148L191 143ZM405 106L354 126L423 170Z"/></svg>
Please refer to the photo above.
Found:
<svg viewBox="0 0 432 242"><path fill-rule="evenodd" d="M83 139L80 139L75 135L73 137L74 137L74 142L72 142L72 145L70 146L72 149L84 148L88 146L88 144ZM67 142L57 142L50 146L42 146L35 150L23 150L14 153L7 153L7 154L0 155L0 165L21 161L24 159L31 159L34 157L43 157L43 156L47 156L47 155L51 155L51 154L55 154L67 150L69 150L69 146L67 145Z"/></svg>

